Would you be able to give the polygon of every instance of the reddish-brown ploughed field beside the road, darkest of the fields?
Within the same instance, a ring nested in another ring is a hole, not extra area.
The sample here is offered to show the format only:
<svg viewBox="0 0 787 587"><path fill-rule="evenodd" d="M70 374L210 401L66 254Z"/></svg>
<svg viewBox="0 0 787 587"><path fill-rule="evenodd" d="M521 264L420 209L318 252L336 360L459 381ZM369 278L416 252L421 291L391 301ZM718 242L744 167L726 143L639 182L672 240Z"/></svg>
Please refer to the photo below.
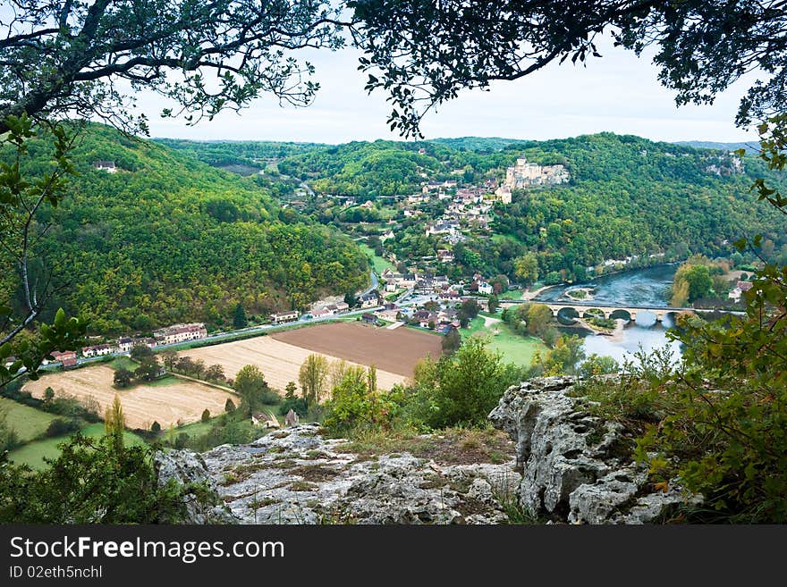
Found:
<svg viewBox="0 0 787 587"><path fill-rule="evenodd" d="M277 332L271 338L361 365L375 365L379 370L405 377L412 377L419 358L431 355L438 359L443 352L442 337L435 334L360 323L320 324Z"/></svg>

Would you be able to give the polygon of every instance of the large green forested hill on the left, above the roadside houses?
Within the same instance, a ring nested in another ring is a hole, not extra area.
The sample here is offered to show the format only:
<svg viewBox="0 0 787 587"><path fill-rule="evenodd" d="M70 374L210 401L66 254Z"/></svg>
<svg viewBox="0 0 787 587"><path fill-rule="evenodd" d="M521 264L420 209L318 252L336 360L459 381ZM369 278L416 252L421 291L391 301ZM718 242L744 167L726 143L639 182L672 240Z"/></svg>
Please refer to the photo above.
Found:
<svg viewBox="0 0 787 587"><path fill-rule="evenodd" d="M40 172L48 149L38 141L30 150L28 171ZM252 180L98 125L72 158L80 175L42 217L52 227L40 252L62 288L50 306L89 318L92 331L231 324L238 302L267 313L368 281L350 239L283 211ZM95 169L97 160L118 171Z"/></svg>

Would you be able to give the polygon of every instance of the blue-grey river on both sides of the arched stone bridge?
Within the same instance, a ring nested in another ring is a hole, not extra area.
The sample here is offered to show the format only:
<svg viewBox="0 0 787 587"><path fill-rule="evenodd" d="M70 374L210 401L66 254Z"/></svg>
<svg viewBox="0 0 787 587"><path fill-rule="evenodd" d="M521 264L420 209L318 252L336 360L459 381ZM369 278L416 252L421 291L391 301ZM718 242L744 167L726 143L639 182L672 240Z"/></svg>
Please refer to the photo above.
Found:
<svg viewBox="0 0 787 587"><path fill-rule="evenodd" d="M668 292L673 283L677 264L663 264L646 269L605 275L587 283L576 283L570 286L555 286L546 289L534 301L564 301L568 289L594 288L594 302L599 305L622 306L668 306ZM667 314L664 323L656 323L656 314L640 312L637 322L627 323L620 337L596 334L578 328L561 328L565 333L579 334L584 338L585 354L593 353L602 356L613 356L619 363L624 359L633 358L633 354L641 346L646 352L656 348L670 347L673 356L681 354L680 344L667 340L665 332L673 325L672 316Z"/></svg>

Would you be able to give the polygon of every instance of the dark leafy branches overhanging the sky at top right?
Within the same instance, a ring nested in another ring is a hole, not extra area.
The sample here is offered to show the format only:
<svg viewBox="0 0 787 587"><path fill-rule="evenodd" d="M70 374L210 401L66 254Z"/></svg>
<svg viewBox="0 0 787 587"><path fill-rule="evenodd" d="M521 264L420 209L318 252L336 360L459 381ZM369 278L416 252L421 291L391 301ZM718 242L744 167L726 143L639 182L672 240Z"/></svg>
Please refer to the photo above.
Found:
<svg viewBox="0 0 787 587"><path fill-rule="evenodd" d="M749 71L739 124L778 112L787 98L787 5L779 0L428 0L348 3L363 35L369 91L393 103L392 128L419 134L424 113L462 88L517 80L549 63L601 57L614 38L637 55L656 50L659 80L678 105L707 104Z"/></svg>

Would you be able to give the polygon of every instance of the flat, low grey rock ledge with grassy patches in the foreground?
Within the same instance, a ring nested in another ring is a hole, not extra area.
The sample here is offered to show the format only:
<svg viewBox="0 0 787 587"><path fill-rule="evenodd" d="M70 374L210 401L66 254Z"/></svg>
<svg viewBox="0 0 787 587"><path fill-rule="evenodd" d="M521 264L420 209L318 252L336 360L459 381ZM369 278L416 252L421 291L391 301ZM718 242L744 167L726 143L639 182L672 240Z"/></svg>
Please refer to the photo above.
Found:
<svg viewBox="0 0 787 587"><path fill-rule="evenodd" d="M513 460L444 465L406 452L359 455L347 452L346 440L320 432L301 424L202 456L170 451L162 471L209 482L241 524L507 521L503 501L520 482Z"/></svg>

